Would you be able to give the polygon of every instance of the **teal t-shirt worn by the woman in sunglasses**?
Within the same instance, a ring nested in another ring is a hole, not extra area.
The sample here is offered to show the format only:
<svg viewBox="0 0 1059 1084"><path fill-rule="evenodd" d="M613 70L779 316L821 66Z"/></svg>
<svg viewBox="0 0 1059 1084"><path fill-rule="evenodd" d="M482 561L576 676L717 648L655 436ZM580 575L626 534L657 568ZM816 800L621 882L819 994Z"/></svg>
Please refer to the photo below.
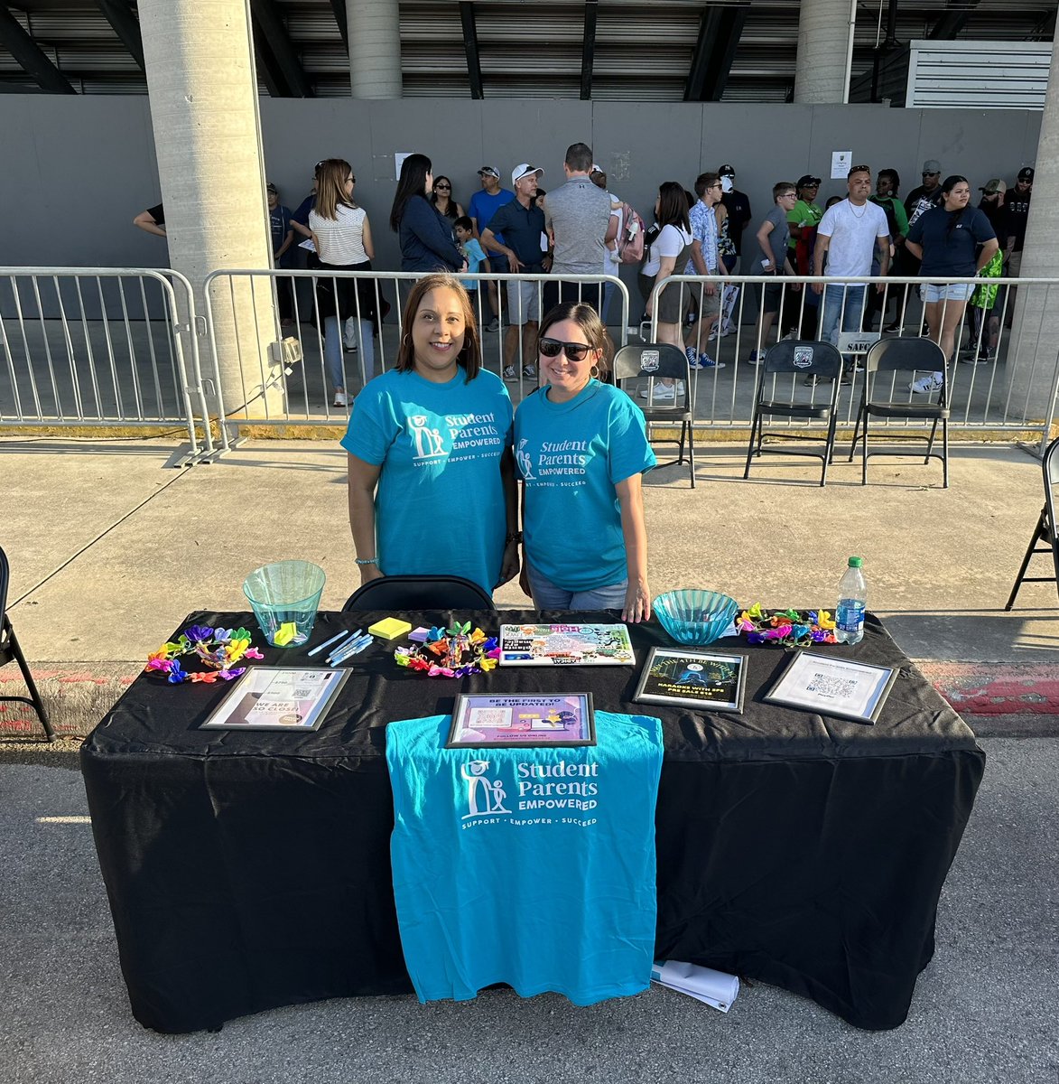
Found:
<svg viewBox="0 0 1059 1084"><path fill-rule="evenodd" d="M514 416L526 558L564 591L620 583L628 569L614 487L657 462L643 411L597 379L565 403L548 399L548 387Z"/></svg>

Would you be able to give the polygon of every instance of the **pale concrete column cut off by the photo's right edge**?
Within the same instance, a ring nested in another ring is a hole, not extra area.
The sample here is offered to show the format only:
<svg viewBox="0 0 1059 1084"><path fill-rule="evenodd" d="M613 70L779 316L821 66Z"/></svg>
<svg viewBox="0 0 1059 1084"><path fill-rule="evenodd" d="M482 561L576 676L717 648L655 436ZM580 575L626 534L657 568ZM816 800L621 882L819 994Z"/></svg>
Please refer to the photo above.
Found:
<svg viewBox="0 0 1059 1084"><path fill-rule="evenodd" d="M1053 46L1041 118L1033 199L1022 251L1023 279L1059 278L1059 41ZM1018 172L1018 170L1015 170ZM1008 183L1014 183L1011 177ZM1008 339L1009 412L1027 422L1053 417L1059 380L1059 286L1021 286ZM1012 364L1014 360L1014 364Z"/></svg>

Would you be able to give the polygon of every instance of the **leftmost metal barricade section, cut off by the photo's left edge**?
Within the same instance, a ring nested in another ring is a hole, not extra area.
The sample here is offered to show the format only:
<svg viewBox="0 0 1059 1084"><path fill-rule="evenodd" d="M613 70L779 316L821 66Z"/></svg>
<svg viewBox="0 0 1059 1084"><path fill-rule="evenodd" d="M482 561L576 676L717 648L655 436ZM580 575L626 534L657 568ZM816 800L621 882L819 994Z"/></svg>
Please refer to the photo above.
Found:
<svg viewBox="0 0 1059 1084"><path fill-rule="evenodd" d="M179 426L195 457L207 409L194 320L175 271L0 268L0 425Z"/></svg>

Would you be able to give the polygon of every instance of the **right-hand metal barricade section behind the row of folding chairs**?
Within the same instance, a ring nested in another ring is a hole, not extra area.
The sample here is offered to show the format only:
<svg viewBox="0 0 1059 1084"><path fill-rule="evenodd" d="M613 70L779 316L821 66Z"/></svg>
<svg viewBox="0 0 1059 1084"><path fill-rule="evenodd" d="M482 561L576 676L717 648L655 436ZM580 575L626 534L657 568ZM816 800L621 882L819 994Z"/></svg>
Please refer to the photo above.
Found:
<svg viewBox="0 0 1059 1084"><path fill-rule="evenodd" d="M1059 392L1059 357L1056 348L1041 349L1037 344L1046 333L1045 315L1057 311L1059 280L950 279L931 284L964 285L975 291L966 304L947 299L938 302L940 319L950 313L952 317L954 349L945 374L952 427L979 437L1035 435L1040 430L1046 442ZM840 282L814 276L670 275L654 286L650 302L653 315L641 334L653 341L674 343L695 351L691 393L696 428L742 433L750 424L757 364L767 346L776 338L819 338L827 332L821 326L826 320L834 332L831 341L851 351L846 354L847 386L839 399L839 423L852 428L864 379L861 362L871 341L880 336L930 334L923 300L926 285L924 279L895 275ZM983 286L995 287L995 293L982 293ZM679 312L703 312L712 308L708 287L719 292L722 310L729 302L727 314L722 311L714 321L682 319L679 325L659 326L662 291L680 292ZM737 292L734 300L733 287ZM1015 321L1017 334L1010 331L1016 314L1015 287L1021 311L1021 319ZM873 302L870 307L868 300ZM706 327L708 324L711 326ZM872 328L873 324L875 334L860 334L862 327ZM717 327L721 327L720 333ZM846 340L839 341L844 333ZM702 354L706 358L701 359ZM771 379L786 391L795 378L784 376L785 383L780 377ZM904 386L886 390L907 396L910 401L917 395L907 380ZM820 393L824 393L823 388ZM807 388L807 401L811 402L814 395L814 389ZM775 423L789 427L815 424L790 418L777 418ZM901 427L907 427L907 423L901 423Z"/></svg>

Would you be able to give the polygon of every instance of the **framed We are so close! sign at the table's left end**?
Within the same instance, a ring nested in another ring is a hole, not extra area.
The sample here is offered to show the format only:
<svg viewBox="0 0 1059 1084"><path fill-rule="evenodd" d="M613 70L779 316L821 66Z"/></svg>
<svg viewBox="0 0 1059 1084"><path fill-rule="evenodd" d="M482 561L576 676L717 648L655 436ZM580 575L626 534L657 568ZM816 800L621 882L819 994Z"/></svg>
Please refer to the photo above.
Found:
<svg viewBox="0 0 1059 1084"><path fill-rule="evenodd" d="M249 667L199 730L319 730L349 675L345 667Z"/></svg>

